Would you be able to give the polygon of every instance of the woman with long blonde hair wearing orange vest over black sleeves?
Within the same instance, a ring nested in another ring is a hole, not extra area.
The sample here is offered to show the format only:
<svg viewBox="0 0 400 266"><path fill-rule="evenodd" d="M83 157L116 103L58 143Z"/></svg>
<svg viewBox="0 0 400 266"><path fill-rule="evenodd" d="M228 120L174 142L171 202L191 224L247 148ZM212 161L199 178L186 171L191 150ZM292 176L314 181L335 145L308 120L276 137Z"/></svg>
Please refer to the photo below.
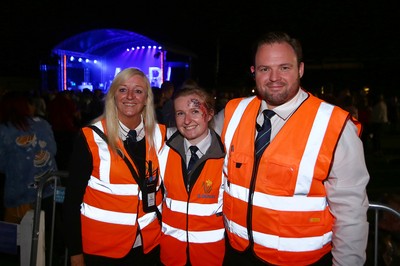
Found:
<svg viewBox="0 0 400 266"><path fill-rule="evenodd" d="M161 236L153 93L137 68L117 74L104 113L74 145L64 201L71 265L156 265Z"/></svg>

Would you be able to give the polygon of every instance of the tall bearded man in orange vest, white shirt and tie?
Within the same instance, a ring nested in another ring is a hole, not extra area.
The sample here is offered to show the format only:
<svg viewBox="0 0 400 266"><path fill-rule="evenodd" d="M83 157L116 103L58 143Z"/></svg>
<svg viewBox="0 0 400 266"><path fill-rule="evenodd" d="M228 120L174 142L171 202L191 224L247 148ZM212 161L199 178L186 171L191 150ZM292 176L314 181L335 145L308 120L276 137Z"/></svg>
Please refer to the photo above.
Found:
<svg viewBox="0 0 400 266"><path fill-rule="evenodd" d="M229 101L219 120L227 152L224 264L364 265L369 173L361 125L300 86L298 40L267 33L253 60L257 95ZM270 143L256 154L268 121Z"/></svg>

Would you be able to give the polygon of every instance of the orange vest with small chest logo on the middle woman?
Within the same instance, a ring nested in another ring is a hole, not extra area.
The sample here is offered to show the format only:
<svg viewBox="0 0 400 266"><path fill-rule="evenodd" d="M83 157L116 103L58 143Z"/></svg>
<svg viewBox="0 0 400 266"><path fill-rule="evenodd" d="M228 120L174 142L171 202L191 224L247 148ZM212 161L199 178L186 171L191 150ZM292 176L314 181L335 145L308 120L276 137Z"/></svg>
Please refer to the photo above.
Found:
<svg viewBox="0 0 400 266"><path fill-rule="evenodd" d="M206 161L190 193L183 181L180 155L164 146L159 160L166 192L162 209L161 262L167 266L186 265L189 255L193 266L222 265L225 253L221 186L224 158Z"/></svg>

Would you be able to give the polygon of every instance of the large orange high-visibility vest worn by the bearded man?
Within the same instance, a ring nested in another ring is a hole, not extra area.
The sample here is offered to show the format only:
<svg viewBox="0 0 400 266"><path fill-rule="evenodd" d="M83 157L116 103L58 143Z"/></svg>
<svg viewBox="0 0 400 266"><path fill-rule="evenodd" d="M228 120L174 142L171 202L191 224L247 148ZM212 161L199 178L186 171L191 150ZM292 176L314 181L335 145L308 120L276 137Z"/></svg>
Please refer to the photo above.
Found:
<svg viewBox="0 0 400 266"><path fill-rule="evenodd" d="M323 181L349 114L309 94L266 148L255 171L260 105L259 98L250 97L232 100L225 108L222 140L229 156L223 213L228 239L236 250L250 247L268 263L312 264L332 248L334 217ZM360 131L361 125L356 126Z"/></svg>

